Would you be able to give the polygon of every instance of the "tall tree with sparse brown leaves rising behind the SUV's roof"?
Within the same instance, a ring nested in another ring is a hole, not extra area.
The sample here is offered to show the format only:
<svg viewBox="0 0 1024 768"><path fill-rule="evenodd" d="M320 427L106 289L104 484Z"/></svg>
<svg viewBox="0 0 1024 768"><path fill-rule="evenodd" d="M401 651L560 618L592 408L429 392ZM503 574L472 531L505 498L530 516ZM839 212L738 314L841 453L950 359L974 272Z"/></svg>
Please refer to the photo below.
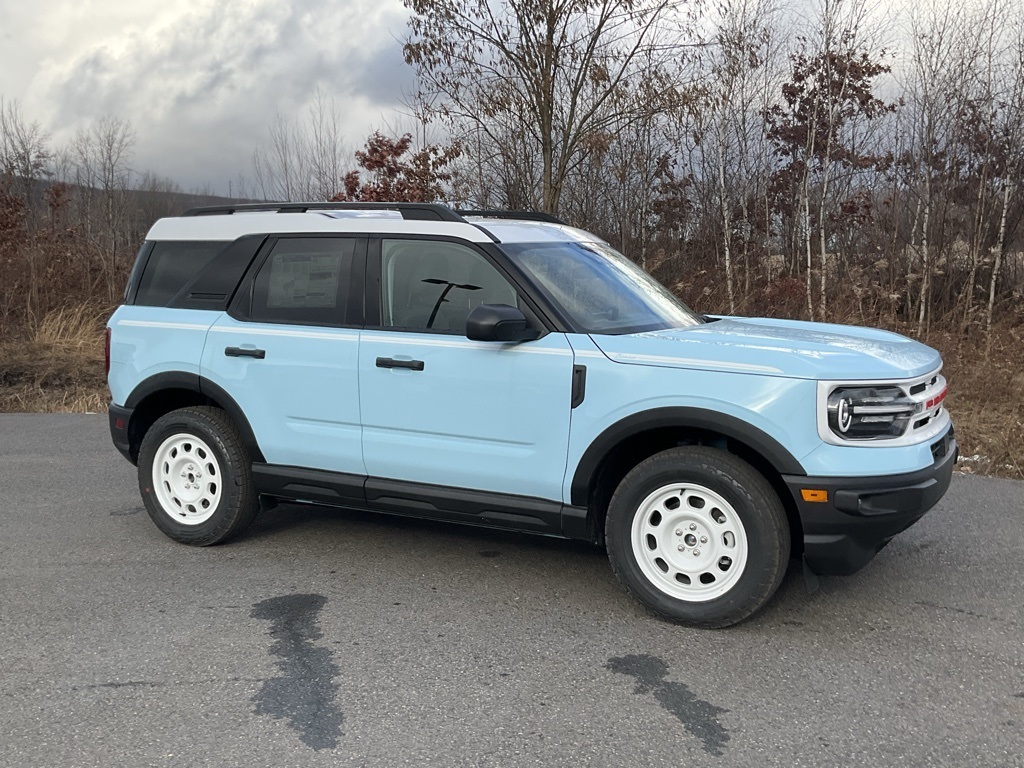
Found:
<svg viewBox="0 0 1024 768"><path fill-rule="evenodd" d="M557 212L590 142L678 98L660 77L681 51L678 2L403 2L407 61L488 175L519 187L512 204Z"/></svg>

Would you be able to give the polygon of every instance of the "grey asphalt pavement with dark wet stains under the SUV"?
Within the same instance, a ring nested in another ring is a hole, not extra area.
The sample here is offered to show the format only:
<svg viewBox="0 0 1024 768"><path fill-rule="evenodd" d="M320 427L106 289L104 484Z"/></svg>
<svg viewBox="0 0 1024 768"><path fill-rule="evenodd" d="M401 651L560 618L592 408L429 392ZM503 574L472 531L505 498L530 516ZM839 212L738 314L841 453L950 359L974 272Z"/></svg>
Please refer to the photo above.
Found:
<svg viewBox="0 0 1024 768"><path fill-rule="evenodd" d="M1024 484L738 627L571 542L282 506L175 544L104 416L0 416L0 766L1024 766Z"/></svg>

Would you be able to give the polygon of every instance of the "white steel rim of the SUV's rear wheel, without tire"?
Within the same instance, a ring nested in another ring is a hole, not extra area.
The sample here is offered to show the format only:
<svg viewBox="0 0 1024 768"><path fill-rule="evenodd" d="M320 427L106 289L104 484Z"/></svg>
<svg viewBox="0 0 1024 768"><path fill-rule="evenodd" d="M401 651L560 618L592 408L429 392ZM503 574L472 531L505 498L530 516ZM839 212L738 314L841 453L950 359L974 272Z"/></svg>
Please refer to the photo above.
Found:
<svg viewBox="0 0 1024 768"><path fill-rule="evenodd" d="M161 509L181 525L201 525L220 505L220 463L194 434L167 437L154 455L153 488Z"/></svg>

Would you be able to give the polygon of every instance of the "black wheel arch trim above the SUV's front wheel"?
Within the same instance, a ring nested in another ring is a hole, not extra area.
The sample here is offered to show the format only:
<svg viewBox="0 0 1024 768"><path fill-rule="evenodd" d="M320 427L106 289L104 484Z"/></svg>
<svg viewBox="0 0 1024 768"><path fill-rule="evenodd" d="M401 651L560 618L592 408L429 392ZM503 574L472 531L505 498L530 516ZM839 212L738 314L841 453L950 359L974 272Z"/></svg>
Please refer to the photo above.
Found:
<svg viewBox="0 0 1024 768"><path fill-rule="evenodd" d="M760 454L782 475L806 475L804 467L774 437L728 414L701 408L667 407L633 414L615 422L590 443L577 465L570 486L571 504L586 506L592 481L608 453L623 440L665 427L715 432Z"/></svg>

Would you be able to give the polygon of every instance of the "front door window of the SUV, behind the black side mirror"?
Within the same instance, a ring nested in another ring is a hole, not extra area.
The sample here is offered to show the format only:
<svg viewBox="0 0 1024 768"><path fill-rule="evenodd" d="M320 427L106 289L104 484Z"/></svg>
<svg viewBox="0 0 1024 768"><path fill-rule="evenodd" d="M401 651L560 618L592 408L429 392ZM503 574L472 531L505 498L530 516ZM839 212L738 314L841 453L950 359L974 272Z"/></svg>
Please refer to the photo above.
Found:
<svg viewBox="0 0 1024 768"><path fill-rule="evenodd" d="M516 292L471 248L441 241L383 242L385 328L464 334L466 317L480 304L517 306Z"/></svg>

